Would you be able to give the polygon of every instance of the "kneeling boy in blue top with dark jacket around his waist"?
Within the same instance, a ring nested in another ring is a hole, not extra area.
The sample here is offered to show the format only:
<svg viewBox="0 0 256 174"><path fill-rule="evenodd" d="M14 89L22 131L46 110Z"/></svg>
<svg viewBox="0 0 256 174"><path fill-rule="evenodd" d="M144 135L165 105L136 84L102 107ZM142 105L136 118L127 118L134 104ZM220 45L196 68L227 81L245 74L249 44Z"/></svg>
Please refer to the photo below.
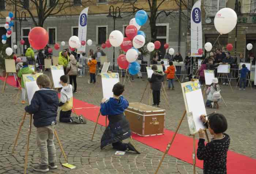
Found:
<svg viewBox="0 0 256 174"><path fill-rule="evenodd" d="M124 110L129 106L128 101L122 96L124 85L117 83L113 87L113 97L109 100L102 99L101 114L108 115L109 125L101 138L101 149L112 144L113 148L120 151L131 150L140 154L134 143L123 143L124 139L131 137L129 122L125 118Z"/></svg>

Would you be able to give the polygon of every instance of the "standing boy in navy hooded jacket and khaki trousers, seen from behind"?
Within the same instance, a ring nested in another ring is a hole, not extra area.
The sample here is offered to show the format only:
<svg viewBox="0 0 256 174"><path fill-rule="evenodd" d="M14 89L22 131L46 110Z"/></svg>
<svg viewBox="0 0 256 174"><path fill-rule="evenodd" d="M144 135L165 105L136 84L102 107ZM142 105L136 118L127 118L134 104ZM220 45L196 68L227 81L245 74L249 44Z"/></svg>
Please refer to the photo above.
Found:
<svg viewBox="0 0 256 174"><path fill-rule="evenodd" d="M33 114L34 126L37 128L37 145L41 154L41 163L33 166L33 169L47 172L49 167L50 169L57 168L53 140L59 98L57 91L49 88L50 78L47 75L38 76L37 85L40 90L35 91L31 104L25 107L25 111Z"/></svg>

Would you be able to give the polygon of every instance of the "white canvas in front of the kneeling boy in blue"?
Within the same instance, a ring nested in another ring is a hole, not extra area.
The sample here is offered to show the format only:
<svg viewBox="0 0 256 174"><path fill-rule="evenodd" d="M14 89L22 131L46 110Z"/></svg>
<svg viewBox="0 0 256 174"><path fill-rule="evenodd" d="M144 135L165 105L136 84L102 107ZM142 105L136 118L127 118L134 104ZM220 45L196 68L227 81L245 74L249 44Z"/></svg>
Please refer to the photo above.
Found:
<svg viewBox="0 0 256 174"><path fill-rule="evenodd" d="M118 73L102 73L101 80L103 98L108 100L110 97L113 97L113 86L119 82L119 75Z"/></svg>

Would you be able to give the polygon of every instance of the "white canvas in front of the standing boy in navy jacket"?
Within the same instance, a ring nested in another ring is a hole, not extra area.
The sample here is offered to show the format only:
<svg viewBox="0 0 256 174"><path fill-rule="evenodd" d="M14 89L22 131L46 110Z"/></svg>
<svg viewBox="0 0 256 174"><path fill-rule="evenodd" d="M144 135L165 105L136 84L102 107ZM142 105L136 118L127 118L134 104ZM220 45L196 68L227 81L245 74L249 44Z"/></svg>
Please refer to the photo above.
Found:
<svg viewBox="0 0 256 174"><path fill-rule="evenodd" d="M31 103L31 99L33 98L33 95L35 94L35 91L39 90L39 87L37 86L37 77L39 75L42 75L43 73L37 73L37 74L23 74L23 81L25 84L25 88L27 91L27 99L29 101L29 104Z"/></svg>

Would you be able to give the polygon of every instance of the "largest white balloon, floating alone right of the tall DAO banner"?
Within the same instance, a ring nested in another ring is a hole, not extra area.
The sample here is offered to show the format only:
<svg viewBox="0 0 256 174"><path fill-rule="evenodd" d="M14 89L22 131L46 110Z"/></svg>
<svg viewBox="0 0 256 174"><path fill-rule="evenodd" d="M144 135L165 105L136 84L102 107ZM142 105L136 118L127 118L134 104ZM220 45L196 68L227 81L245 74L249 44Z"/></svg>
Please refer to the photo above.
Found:
<svg viewBox="0 0 256 174"><path fill-rule="evenodd" d="M214 17L214 26L221 34L232 31L237 24L237 13L231 8L222 8Z"/></svg>

